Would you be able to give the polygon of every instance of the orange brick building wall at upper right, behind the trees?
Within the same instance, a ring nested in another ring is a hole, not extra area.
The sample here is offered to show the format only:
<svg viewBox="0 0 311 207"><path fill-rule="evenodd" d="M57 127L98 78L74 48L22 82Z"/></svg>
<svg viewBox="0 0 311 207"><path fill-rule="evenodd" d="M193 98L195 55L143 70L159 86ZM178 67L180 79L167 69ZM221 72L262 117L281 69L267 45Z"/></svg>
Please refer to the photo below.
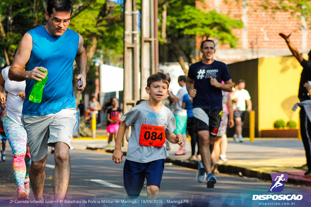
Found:
<svg viewBox="0 0 311 207"><path fill-rule="evenodd" d="M237 49L232 49L229 45L218 44L216 59L230 63L258 57L290 55L285 41L278 35L280 32L292 33L290 39L299 51L309 52L310 29L303 29L303 21L299 19L299 13L295 12L292 16L290 12L265 10L260 6L264 3L264 0L246 0L246 5L243 7L242 0L196 2L196 6L203 11L216 9L218 12L244 22L245 28L233 29L233 33L239 38ZM309 25L310 21L307 24ZM202 55L199 53L201 41L202 38L197 37L197 59Z"/></svg>

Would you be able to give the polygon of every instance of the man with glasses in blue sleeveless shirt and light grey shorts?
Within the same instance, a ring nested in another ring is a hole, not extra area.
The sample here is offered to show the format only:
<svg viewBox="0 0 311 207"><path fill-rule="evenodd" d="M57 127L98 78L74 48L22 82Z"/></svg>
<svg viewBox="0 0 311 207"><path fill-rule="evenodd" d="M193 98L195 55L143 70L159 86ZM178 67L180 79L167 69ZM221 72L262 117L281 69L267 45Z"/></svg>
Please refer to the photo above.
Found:
<svg viewBox="0 0 311 207"><path fill-rule="evenodd" d="M67 29L71 13L70 0L49 0L45 11L47 24L24 35L9 70L10 80L26 80L21 121L27 131L32 157L29 178L35 200L43 200L48 146L55 147L55 200L64 200L69 182L69 150L73 149L70 139L77 123L76 100L72 92L73 62L76 60L80 70L76 81L82 79L82 85L78 85L79 91L86 86L87 64L83 38ZM23 71L25 65L26 70ZM48 72L47 77L40 69ZM48 79L42 101L30 101L34 81L45 78Z"/></svg>

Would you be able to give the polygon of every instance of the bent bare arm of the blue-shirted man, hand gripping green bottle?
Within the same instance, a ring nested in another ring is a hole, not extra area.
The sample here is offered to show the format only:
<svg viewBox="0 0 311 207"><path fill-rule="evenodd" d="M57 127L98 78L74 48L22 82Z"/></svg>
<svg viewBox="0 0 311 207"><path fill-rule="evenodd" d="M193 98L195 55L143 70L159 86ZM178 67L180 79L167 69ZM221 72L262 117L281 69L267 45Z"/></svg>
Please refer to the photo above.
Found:
<svg viewBox="0 0 311 207"><path fill-rule="evenodd" d="M45 78L46 74L41 72L40 69L47 71L44 67L35 67L33 70L23 70L26 63L29 61L30 53L32 50L32 37L26 33L18 46L13 63L9 70L8 77L14 81L24 81L27 79L41 81L40 78Z"/></svg>

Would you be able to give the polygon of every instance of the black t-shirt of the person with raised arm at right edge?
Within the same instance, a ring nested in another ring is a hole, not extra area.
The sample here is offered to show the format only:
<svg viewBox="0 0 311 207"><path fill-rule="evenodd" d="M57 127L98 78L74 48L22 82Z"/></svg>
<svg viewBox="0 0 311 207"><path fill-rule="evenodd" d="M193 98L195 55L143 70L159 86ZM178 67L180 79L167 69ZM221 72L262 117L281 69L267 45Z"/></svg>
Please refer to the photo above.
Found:
<svg viewBox="0 0 311 207"><path fill-rule="evenodd" d="M304 101L310 99L310 97L308 96L308 91L304 87L304 83L308 80L311 80L311 62L303 59L301 62L301 66L303 67L303 69L300 75L298 98L300 101Z"/></svg>

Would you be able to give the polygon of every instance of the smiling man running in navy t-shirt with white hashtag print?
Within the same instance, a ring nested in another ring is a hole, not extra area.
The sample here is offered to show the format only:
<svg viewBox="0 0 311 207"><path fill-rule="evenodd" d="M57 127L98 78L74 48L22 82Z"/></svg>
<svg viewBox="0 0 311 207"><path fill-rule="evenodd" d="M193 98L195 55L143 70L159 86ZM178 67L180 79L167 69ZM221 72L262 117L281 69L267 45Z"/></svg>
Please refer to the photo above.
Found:
<svg viewBox="0 0 311 207"><path fill-rule="evenodd" d="M190 65L187 77L187 90L193 98L193 116L195 130L199 135L200 154L197 181L207 179L207 187L216 183L211 173L211 152L222 116L221 91L232 91L232 80L227 65L213 59L215 43L205 40L201 44L202 61ZM222 84L221 81L225 84Z"/></svg>

